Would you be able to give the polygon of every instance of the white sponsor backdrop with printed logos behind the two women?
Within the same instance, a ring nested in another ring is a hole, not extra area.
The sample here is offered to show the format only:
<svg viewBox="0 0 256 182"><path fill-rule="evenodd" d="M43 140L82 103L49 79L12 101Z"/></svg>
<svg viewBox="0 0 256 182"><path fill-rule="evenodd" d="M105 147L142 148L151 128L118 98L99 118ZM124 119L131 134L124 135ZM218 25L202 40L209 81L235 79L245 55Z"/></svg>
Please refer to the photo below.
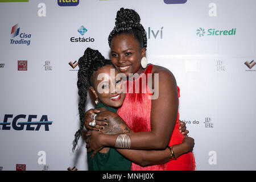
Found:
<svg viewBox="0 0 256 182"><path fill-rule="evenodd" d="M255 0L0 1L0 170L88 169L82 140L72 152L76 64L87 47L109 57L121 7L141 16L149 62L176 77L196 169L255 170Z"/></svg>

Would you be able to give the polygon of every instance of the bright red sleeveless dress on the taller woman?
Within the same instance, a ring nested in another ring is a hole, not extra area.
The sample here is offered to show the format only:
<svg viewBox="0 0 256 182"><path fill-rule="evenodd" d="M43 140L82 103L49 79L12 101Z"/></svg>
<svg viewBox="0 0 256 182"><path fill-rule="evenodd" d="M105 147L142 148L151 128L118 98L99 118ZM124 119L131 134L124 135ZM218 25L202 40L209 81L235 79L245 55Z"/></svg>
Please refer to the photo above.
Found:
<svg viewBox="0 0 256 182"><path fill-rule="evenodd" d="M134 132L151 131L151 100L152 96L150 87L147 85L147 79L151 75L152 64L148 64L144 73L127 81L127 93L122 107L117 111L117 114L126 122L126 124ZM146 81L146 82L145 82ZM146 83L146 84L143 84ZM180 89L178 96L180 97ZM184 135L179 132L179 111L177 119L172 131L169 146L182 143ZM135 163L131 164L131 171L174 171L174 170L195 170L195 159L192 152L183 154L177 160L171 160L165 164L141 167Z"/></svg>

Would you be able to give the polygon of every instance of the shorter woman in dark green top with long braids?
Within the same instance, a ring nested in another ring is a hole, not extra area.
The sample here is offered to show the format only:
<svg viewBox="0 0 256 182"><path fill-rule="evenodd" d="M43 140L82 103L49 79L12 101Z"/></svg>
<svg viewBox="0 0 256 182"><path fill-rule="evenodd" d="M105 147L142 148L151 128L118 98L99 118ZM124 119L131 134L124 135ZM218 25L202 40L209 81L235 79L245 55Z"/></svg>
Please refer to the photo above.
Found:
<svg viewBox="0 0 256 182"><path fill-rule="evenodd" d="M123 86L122 77L118 76L118 71L115 69L112 62L106 60L97 50L87 48L84 55L79 59L79 72L77 76L77 88L79 89L80 96L79 115L81 126L75 134L73 151L76 148L77 141L84 128L85 102L88 89L90 89L96 97L98 114L95 119L105 123L105 126L98 130L104 134L132 133L133 131L130 130L122 118L117 114L117 108L122 105L123 100L125 99L125 93L121 92ZM96 110L93 111L95 112ZM188 131L185 134L187 133ZM88 142L88 140L86 142ZM192 151L193 145L193 139L185 137L183 143L172 146L176 158L185 152ZM88 146L88 144L86 146ZM131 162L141 166L151 166L155 164L163 164L172 159L174 159L174 156L171 154L169 148L166 148L166 150L154 151L104 147L93 158L92 152L88 150L88 169L115 171L130 170Z"/></svg>

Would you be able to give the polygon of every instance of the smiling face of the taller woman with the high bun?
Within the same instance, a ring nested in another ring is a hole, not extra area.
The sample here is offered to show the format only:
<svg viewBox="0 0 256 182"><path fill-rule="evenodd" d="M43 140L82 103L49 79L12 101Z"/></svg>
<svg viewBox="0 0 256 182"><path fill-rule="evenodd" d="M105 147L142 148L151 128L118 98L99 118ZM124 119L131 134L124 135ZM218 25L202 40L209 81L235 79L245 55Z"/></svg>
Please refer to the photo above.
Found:
<svg viewBox="0 0 256 182"><path fill-rule="evenodd" d="M111 61L121 73L129 76L129 73L141 72L141 59L146 56L146 48L139 47L133 34L114 36L110 48Z"/></svg>

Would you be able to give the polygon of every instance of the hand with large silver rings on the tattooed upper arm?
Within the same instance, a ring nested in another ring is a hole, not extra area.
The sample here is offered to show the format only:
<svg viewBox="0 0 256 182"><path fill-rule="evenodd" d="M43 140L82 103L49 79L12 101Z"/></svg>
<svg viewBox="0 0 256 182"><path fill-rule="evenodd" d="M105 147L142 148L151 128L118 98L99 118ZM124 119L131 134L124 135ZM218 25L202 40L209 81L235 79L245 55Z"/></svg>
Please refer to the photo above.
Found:
<svg viewBox="0 0 256 182"><path fill-rule="evenodd" d="M88 130L102 130L103 126L108 125L108 123L106 122L108 120L108 118L106 117L101 117L99 115L96 115L95 117L95 121L96 121L96 126L92 127L89 125L90 122L93 122L93 119L91 118L92 114L98 114L101 111L99 109L90 109L88 111L86 111L85 113L85 119L84 119L84 125L86 127L86 129Z"/></svg>

